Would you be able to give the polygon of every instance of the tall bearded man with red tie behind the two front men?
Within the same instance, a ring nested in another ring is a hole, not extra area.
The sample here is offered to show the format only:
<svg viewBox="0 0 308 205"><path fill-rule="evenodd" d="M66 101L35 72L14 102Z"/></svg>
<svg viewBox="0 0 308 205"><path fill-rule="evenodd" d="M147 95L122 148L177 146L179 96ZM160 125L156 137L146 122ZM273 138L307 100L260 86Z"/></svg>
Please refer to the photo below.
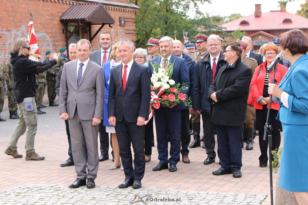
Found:
<svg viewBox="0 0 308 205"><path fill-rule="evenodd" d="M112 36L108 31L103 31L98 35L98 42L100 49L93 51L90 54L90 60L103 67L104 63L109 61L111 53L111 41ZM109 136L106 132L106 127L103 125L103 121L99 124L99 141L100 141L100 156L99 161L104 161L109 159ZM111 143L111 141L110 141ZM112 144L111 144L112 148ZM112 161L114 161L113 152L111 152Z"/></svg>

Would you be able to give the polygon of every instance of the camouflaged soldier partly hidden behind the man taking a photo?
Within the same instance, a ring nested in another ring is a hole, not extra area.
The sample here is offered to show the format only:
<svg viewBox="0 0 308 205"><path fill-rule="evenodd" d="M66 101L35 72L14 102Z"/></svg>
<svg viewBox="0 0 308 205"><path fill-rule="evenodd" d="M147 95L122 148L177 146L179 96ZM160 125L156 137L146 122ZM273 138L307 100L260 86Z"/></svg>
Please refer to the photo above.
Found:
<svg viewBox="0 0 308 205"><path fill-rule="evenodd" d="M18 107L14 96L14 78L12 74L12 68L11 68L11 52L10 51L10 58L5 62L3 66L3 75L4 79L6 81L6 87L7 87L7 98L8 98L8 106L10 111L10 119L18 119L19 115L17 113Z"/></svg>

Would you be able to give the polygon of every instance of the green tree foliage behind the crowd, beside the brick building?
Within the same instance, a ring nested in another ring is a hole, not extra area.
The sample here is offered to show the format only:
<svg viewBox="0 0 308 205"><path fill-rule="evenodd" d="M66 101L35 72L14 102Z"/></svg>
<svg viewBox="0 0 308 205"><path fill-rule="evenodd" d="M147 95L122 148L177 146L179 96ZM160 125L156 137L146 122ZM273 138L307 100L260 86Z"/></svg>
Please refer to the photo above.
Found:
<svg viewBox="0 0 308 205"><path fill-rule="evenodd" d="M136 13L136 46L144 47L150 37L174 37L182 40L183 30L188 32L189 40L194 39L197 33L225 34L222 27L224 17L209 16L198 10L197 3L210 0L131 0L139 6ZM194 8L195 17L189 18L186 11Z"/></svg>

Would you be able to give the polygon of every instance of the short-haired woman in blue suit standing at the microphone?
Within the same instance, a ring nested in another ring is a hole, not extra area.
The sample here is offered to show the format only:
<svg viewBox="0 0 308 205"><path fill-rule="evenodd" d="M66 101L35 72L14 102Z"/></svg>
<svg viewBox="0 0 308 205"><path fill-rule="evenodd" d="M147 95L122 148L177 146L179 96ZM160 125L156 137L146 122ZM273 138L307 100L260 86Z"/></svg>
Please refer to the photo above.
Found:
<svg viewBox="0 0 308 205"><path fill-rule="evenodd" d="M308 39L298 29L282 34L283 58L292 66L269 94L278 97L277 119L282 123L283 148L279 187L294 191L298 204L308 202Z"/></svg>

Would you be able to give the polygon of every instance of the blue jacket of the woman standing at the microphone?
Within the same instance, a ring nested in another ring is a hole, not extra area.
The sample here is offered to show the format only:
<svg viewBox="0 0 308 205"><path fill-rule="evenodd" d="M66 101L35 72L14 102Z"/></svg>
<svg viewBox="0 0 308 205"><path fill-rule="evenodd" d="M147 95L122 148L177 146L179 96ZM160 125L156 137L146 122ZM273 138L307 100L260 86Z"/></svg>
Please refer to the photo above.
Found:
<svg viewBox="0 0 308 205"><path fill-rule="evenodd" d="M280 99L277 119L284 124L308 124L308 55L299 57L279 83L279 88L288 93L289 108Z"/></svg>

